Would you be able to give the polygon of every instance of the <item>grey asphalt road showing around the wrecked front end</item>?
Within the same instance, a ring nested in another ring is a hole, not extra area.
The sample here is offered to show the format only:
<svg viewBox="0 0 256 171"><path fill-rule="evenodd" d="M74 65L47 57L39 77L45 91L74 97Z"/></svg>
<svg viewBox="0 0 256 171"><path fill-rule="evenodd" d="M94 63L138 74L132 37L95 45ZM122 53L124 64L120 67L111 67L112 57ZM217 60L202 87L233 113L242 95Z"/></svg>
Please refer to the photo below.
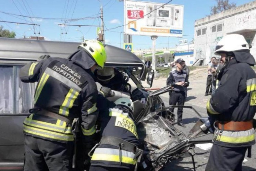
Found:
<svg viewBox="0 0 256 171"><path fill-rule="evenodd" d="M166 96L161 96L162 99L164 100L164 103L168 105L168 98ZM188 102L185 103L187 106L192 106L194 107L202 116L207 116L206 109L202 107L198 107L195 105L191 105ZM175 112L175 110L174 110ZM176 113L176 112L175 112ZM194 126L195 122L198 120L198 115L192 111L191 109L184 109L183 110L183 123L187 126L186 128L179 127L180 130L182 130L186 135L188 132L192 129ZM198 152L203 152L201 149L196 147L196 151ZM195 165L196 165L196 171L204 171L207 161L209 158L209 153L205 155L195 155ZM256 171L256 145L252 147L252 158L245 157L246 162L243 163L243 171ZM168 164L168 166L164 169L161 169L161 171L189 171L193 170L193 163L192 163L192 158L187 157L187 158L181 158L181 159L176 159L172 161L171 163Z"/></svg>

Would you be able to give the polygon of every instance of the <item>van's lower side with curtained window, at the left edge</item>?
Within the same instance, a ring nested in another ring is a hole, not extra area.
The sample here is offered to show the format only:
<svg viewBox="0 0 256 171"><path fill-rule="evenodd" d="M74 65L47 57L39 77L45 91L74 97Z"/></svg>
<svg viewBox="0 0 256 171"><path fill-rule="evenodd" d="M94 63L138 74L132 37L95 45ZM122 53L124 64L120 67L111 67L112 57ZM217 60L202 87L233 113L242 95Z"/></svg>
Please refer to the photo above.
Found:
<svg viewBox="0 0 256 171"><path fill-rule="evenodd" d="M21 67L0 65L0 170L23 168L23 121L33 107L35 84L20 81Z"/></svg>

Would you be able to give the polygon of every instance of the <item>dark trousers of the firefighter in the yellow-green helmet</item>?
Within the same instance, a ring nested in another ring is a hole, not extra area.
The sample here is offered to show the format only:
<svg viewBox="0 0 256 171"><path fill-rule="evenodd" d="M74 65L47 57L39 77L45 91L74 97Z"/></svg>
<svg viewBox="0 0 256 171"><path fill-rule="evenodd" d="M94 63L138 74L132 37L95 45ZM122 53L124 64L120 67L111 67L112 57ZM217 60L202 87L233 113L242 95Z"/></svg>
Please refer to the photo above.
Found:
<svg viewBox="0 0 256 171"><path fill-rule="evenodd" d="M24 171L71 171L73 142L47 141L24 135Z"/></svg>

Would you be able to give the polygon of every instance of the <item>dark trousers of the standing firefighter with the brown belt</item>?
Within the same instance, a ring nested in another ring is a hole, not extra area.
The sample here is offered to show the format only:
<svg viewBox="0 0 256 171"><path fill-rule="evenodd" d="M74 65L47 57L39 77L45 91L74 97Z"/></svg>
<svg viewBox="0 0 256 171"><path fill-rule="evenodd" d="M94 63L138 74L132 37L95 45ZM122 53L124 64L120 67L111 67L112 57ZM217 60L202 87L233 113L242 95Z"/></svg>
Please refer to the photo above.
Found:
<svg viewBox="0 0 256 171"><path fill-rule="evenodd" d="M241 171L248 147L223 147L212 145L206 171Z"/></svg>

